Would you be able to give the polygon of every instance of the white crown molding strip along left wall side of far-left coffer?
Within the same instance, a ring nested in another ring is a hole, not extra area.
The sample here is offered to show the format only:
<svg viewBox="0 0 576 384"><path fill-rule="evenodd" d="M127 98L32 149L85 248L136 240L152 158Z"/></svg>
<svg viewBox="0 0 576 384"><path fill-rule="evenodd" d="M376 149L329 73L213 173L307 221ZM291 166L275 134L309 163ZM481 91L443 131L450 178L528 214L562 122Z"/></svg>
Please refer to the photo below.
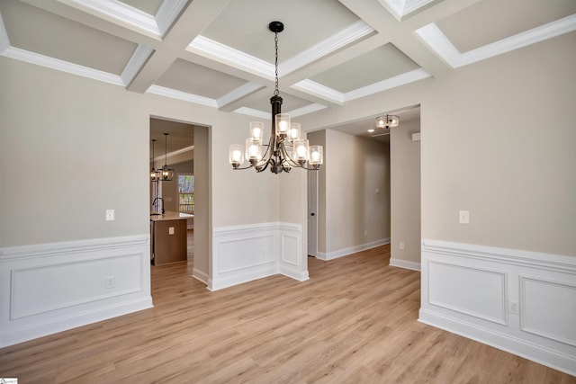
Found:
<svg viewBox="0 0 576 384"><path fill-rule="evenodd" d="M10 47L8 49L4 49L0 55L7 58L15 58L16 60L35 64L40 67L48 67L61 72L67 72L68 74L88 77L113 85L124 86L124 82L122 81L121 76L113 75L94 68L79 66L64 60L59 60L58 58L49 58L48 56L33 53L28 50Z"/></svg>

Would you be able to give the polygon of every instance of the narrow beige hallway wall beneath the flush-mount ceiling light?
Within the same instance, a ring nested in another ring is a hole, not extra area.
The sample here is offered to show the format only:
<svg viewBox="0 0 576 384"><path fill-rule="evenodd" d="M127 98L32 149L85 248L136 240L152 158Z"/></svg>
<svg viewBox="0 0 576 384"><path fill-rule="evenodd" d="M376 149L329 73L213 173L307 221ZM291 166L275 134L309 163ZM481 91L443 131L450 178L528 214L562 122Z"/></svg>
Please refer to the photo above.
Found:
<svg viewBox="0 0 576 384"><path fill-rule="evenodd" d="M420 263L420 142L412 141L412 133L419 131L415 119L390 133L391 257L414 263Z"/></svg>

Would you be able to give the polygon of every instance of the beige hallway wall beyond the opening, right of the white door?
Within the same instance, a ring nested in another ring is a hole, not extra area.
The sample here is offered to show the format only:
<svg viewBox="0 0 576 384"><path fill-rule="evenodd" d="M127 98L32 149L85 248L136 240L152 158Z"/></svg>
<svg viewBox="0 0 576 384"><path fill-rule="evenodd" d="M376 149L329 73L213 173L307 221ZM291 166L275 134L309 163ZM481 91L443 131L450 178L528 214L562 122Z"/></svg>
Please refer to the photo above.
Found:
<svg viewBox="0 0 576 384"><path fill-rule="evenodd" d="M316 138L312 133L311 137ZM328 129L319 180L319 252L390 237L388 146ZM378 190L378 192L376 192Z"/></svg>

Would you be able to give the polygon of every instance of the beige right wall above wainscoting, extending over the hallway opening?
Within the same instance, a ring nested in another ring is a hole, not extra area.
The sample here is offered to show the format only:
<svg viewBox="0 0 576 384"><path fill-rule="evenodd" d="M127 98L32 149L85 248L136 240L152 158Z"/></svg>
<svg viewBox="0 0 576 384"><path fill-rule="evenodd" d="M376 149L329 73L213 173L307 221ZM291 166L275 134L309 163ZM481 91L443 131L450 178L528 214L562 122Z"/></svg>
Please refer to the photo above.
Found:
<svg viewBox="0 0 576 384"><path fill-rule="evenodd" d="M575 46L568 33L314 113L302 127L420 104L423 238L576 255Z"/></svg>

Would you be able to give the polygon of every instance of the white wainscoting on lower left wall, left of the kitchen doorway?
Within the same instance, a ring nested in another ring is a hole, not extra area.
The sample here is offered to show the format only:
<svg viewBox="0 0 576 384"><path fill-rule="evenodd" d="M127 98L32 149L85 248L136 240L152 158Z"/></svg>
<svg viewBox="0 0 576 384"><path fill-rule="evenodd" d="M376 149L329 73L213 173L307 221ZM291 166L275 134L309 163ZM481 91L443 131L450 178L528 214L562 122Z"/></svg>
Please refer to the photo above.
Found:
<svg viewBox="0 0 576 384"><path fill-rule="evenodd" d="M0 347L151 308L148 235L0 248Z"/></svg>

